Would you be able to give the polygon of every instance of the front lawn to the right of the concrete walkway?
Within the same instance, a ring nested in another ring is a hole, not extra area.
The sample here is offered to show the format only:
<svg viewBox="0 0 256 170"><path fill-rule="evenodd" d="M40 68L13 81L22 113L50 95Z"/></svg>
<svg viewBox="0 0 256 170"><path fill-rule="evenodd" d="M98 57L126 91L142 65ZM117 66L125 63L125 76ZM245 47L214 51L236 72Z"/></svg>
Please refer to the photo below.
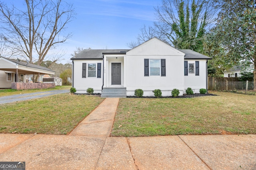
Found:
<svg viewBox="0 0 256 170"><path fill-rule="evenodd" d="M218 96L121 98L112 136L256 134L255 95L210 93Z"/></svg>

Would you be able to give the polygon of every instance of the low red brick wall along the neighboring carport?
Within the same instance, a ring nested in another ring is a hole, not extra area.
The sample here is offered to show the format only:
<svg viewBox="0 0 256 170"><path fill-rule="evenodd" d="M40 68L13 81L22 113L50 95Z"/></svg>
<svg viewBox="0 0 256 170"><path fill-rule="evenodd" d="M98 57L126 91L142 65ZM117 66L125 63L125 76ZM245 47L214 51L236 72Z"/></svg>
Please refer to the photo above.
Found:
<svg viewBox="0 0 256 170"><path fill-rule="evenodd" d="M12 83L12 89L27 90L35 88L55 88L54 83Z"/></svg>

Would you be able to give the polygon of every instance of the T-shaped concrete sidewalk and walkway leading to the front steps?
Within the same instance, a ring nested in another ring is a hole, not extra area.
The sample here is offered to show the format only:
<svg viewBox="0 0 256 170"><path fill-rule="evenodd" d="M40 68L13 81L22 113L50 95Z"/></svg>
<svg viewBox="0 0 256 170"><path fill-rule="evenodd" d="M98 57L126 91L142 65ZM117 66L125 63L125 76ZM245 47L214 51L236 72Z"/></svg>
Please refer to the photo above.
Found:
<svg viewBox="0 0 256 170"><path fill-rule="evenodd" d="M106 98L69 135L0 134L0 162L26 170L255 170L256 135L109 137L118 98Z"/></svg>

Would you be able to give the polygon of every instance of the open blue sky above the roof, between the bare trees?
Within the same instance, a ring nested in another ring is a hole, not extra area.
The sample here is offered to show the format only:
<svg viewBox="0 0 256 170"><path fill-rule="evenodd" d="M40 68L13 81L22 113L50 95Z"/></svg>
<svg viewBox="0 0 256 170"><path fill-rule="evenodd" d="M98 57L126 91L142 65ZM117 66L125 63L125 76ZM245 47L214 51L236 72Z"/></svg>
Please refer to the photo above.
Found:
<svg viewBox="0 0 256 170"><path fill-rule="evenodd" d="M73 0L76 19L67 31L73 32L62 48L70 54L76 47L129 49L140 28L156 20L154 6L161 0ZM62 61L63 63L64 61Z"/></svg>

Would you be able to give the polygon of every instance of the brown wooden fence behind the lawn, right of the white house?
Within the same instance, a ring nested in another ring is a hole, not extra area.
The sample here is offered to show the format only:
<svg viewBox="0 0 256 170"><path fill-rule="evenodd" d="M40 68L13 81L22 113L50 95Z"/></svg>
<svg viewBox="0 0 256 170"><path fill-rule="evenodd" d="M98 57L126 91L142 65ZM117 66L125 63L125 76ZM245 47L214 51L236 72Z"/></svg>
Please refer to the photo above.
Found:
<svg viewBox="0 0 256 170"><path fill-rule="evenodd" d="M253 82L240 82L237 77L208 77L209 90L253 90Z"/></svg>

